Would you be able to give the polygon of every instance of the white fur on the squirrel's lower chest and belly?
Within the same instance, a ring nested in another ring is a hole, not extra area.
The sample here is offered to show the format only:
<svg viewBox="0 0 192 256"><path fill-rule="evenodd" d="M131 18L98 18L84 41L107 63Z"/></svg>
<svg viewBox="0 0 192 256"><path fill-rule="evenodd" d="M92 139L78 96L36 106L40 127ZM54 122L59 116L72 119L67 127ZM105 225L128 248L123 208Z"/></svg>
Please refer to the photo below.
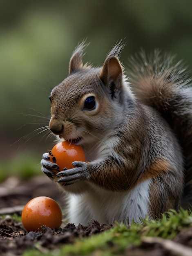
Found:
<svg viewBox="0 0 192 256"><path fill-rule="evenodd" d="M87 225L90 219L102 223L114 220L130 224L141 222L140 218L150 218L149 189L151 180L146 180L130 191L112 192L92 189L82 195L71 195L69 200L69 221Z"/></svg>

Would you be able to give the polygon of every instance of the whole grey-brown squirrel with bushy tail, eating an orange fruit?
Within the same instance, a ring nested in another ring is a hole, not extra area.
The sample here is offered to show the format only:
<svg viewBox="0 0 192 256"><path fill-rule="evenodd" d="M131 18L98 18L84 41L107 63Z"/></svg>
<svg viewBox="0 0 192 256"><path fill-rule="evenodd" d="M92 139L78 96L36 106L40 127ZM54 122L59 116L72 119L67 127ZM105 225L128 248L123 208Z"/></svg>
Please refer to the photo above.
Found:
<svg viewBox="0 0 192 256"><path fill-rule="evenodd" d="M68 194L69 222L129 225L192 205L192 89L183 62L141 50L128 71L117 43L102 67L74 50L69 75L50 94L50 131L83 147L86 162L59 170L43 154L42 172Z"/></svg>

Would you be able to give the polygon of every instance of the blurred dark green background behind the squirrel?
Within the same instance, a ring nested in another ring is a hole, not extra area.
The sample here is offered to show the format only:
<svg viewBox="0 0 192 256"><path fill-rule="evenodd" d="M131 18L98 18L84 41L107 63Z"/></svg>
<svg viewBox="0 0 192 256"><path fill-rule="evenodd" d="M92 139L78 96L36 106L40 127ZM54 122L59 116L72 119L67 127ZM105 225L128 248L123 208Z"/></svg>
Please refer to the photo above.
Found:
<svg viewBox="0 0 192 256"><path fill-rule="evenodd" d="M84 61L96 66L125 38L121 54L125 65L141 47L147 51L158 47L184 59L191 70L191 13L191 0L1 0L2 178L12 172L40 173L42 153L52 148L53 137L35 130L48 125L49 93L67 76L78 42L84 38L91 42Z"/></svg>

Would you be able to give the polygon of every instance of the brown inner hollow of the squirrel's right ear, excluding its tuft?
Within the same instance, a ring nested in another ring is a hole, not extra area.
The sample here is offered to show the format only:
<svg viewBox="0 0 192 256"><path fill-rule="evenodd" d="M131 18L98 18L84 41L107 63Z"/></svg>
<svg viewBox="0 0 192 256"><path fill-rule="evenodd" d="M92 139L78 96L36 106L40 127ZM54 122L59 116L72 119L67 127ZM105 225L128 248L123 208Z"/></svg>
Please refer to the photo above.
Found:
<svg viewBox="0 0 192 256"><path fill-rule="evenodd" d="M123 77L123 67L116 56L106 58L100 72L100 79L108 86L119 89Z"/></svg>

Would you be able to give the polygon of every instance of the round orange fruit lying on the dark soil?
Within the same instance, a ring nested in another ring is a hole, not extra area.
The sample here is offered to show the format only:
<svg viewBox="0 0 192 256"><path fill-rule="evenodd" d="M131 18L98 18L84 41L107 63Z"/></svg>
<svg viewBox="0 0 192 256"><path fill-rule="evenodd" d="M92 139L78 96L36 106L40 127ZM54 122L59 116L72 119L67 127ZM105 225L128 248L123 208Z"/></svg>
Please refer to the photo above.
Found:
<svg viewBox="0 0 192 256"><path fill-rule="evenodd" d="M41 231L41 226L59 229L62 217L58 203L47 196L31 199L23 208L21 215L23 227L28 232Z"/></svg>

